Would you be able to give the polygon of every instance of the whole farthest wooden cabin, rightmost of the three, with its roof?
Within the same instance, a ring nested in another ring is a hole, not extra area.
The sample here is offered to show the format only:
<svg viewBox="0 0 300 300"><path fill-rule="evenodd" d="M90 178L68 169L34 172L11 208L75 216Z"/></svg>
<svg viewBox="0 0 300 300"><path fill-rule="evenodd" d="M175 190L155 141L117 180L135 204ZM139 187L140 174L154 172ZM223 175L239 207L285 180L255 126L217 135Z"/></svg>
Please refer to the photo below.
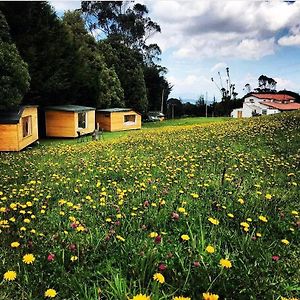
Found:
<svg viewBox="0 0 300 300"><path fill-rule="evenodd" d="M96 123L104 131L141 129L142 116L130 108L97 109Z"/></svg>

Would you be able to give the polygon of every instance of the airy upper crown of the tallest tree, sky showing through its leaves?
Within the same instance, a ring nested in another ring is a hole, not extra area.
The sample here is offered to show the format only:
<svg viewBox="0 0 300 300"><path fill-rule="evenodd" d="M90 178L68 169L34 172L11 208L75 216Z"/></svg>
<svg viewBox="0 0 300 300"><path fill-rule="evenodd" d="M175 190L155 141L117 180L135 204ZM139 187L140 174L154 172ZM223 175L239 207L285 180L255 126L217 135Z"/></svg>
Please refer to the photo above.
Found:
<svg viewBox="0 0 300 300"><path fill-rule="evenodd" d="M127 1L82 1L81 11L95 38L106 37L139 51L150 61L161 54L156 44L147 40L160 32L160 26L148 17L145 5L128 5Z"/></svg>

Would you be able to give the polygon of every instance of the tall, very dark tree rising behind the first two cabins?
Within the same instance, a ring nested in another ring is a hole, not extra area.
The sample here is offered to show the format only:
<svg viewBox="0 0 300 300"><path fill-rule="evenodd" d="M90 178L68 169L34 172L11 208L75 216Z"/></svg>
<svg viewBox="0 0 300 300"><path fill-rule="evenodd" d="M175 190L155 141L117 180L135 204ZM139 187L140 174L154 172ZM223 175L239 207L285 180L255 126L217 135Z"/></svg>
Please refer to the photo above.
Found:
<svg viewBox="0 0 300 300"><path fill-rule="evenodd" d="M76 57L71 40L47 2L0 2L12 39L29 65L25 101L69 102Z"/></svg>

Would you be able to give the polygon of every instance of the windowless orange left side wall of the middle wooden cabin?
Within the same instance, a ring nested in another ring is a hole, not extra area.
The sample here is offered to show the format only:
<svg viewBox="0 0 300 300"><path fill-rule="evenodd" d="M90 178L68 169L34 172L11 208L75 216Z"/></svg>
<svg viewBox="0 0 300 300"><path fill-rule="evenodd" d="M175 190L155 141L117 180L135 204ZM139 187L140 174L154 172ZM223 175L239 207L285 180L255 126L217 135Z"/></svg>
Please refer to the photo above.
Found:
<svg viewBox="0 0 300 300"><path fill-rule="evenodd" d="M46 111L45 119L46 136L77 137L74 112Z"/></svg>

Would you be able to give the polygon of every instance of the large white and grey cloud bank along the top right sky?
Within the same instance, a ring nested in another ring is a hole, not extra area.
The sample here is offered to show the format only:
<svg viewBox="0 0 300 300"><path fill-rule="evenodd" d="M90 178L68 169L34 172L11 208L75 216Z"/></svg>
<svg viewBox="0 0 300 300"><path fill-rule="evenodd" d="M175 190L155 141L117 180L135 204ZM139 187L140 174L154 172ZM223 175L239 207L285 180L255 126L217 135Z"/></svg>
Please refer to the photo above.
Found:
<svg viewBox="0 0 300 300"><path fill-rule="evenodd" d="M289 33L299 24L300 2L281 1L149 1L151 18L162 28L152 42L172 50L175 58L258 60L276 47L298 44Z"/></svg>

